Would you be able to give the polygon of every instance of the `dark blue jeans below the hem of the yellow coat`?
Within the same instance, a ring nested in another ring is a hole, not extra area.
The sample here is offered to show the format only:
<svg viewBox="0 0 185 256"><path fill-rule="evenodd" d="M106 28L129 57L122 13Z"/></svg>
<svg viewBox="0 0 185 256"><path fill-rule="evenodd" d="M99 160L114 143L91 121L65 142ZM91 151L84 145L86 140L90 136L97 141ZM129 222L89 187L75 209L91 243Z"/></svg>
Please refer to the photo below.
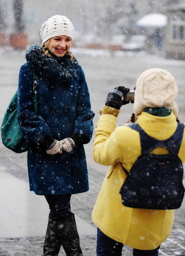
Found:
<svg viewBox="0 0 185 256"><path fill-rule="evenodd" d="M123 244L116 242L98 229L97 230L97 256L121 256ZM133 249L133 256L158 256L160 246L154 250Z"/></svg>

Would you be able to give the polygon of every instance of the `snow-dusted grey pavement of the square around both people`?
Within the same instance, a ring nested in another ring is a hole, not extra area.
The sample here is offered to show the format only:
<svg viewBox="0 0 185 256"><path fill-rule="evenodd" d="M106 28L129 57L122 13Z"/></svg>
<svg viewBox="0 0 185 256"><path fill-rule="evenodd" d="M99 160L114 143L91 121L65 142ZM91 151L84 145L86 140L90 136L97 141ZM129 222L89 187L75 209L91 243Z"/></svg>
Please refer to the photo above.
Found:
<svg viewBox="0 0 185 256"><path fill-rule="evenodd" d="M177 79L180 120L185 121L185 61L165 60L144 53L110 54L108 51L82 49L74 49L74 54L87 77L92 108L96 114L94 125L98 120L98 109L104 104L109 89L120 84L134 87L142 71L157 66L169 70ZM24 61L24 52L0 53L0 122L16 91L18 71ZM121 110L118 124L128 119L131 109L132 105L128 105ZM83 254L95 256L96 227L91 212L107 167L94 163L93 140L85 147L90 190L73 195L71 207L76 214ZM43 196L36 196L29 191L26 153L13 153L0 142L0 163L0 256L41 256L49 209ZM125 246L124 250L123 255L132 255L131 248ZM60 255L64 255L62 250ZM159 255L185 256L185 200L182 207L175 210L173 232L161 245Z"/></svg>

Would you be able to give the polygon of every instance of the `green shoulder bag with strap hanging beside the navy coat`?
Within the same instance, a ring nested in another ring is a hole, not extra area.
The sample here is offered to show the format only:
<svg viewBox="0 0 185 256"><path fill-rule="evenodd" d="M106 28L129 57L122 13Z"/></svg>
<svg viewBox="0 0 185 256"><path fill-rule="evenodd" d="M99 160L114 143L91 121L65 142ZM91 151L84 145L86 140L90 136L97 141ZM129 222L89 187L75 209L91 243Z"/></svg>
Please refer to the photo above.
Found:
<svg viewBox="0 0 185 256"><path fill-rule="evenodd" d="M34 111L37 114L37 92L38 76L33 71L33 92L34 95ZM14 94L11 102L6 109L2 124L1 124L1 138L5 147L9 148L15 153L22 153L28 150L27 142L22 134L20 125L17 121L17 91Z"/></svg>

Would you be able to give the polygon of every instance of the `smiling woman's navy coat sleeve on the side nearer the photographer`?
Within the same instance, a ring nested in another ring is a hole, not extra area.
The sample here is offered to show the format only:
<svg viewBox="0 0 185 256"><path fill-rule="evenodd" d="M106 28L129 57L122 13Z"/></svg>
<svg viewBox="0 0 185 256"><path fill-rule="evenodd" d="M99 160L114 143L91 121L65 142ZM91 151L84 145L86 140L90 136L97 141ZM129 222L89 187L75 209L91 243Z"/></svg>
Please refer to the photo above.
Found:
<svg viewBox="0 0 185 256"><path fill-rule="evenodd" d="M79 91L76 104L76 119L74 122L73 135L74 140L78 143L86 144L90 142L93 134L93 117L91 110L89 91L85 75L80 67Z"/></svg>

